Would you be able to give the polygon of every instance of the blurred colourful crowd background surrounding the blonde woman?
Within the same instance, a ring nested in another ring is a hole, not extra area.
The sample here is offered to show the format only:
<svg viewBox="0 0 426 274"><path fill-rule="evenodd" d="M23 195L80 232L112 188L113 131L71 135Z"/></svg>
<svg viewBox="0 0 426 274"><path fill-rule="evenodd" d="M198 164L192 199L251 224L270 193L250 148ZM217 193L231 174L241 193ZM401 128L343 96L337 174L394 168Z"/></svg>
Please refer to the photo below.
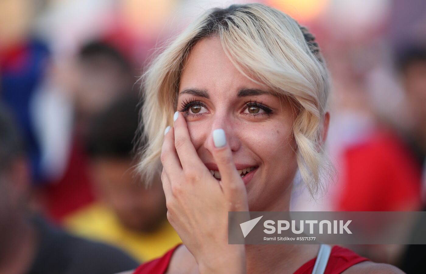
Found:
<svg viewBox="0 0 426 274"><path fill-rule="evenodd" d="M203 11L245 2L0 0L0 273L51 273L40 272L41 254L55 246L63 265L81 267L58 251L80 239L105 243L96 245L110 250L102 260L122 265L110 273L180 243L161 184L146 189L132 170L138 77L155 49ZM296 182L292 210L424 210L426 2L249 2L307 26L331 73L327 151L335 178L316 202ZM59 242L46 236L51 242L40 244L40 235L58 233ZM417 265L422 246L358 251L407 273L426 269Z"/></svg>

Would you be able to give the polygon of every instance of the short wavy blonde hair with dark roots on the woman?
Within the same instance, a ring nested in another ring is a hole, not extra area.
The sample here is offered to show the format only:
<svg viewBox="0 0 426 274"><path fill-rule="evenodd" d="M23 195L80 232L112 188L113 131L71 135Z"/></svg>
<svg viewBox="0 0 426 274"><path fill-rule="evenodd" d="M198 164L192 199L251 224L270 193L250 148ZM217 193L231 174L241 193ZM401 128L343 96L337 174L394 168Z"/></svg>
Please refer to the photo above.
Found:
<svg viewBox="0 0 426 274"><path fill-rule="evenodd" d="M329 93L328 72L313 35L287 14L262 4L207 11L155 58L141 77L145 145L141 146L138 170L146 182L160 171L163 131L173 124L184 62L199 40L213 36L219 37L242 74L296 104L296 159L314 196L322 188L320 171L327 162L320 136Z"/></svg>

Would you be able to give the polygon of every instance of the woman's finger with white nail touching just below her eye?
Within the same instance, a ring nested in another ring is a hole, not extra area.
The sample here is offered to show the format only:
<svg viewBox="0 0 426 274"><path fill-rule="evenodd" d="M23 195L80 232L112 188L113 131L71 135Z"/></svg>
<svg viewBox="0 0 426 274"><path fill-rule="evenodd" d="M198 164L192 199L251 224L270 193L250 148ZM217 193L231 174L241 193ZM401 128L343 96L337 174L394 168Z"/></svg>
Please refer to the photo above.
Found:
<svg viewBox="0 0 426 274"><path fill-rule="evenodd" d="M184 170L207 168L198 157L197 151L191 142L188 127L183 115L176 111L175 116L175 148ZM200 169L201 170L201 169Z"/></svg>

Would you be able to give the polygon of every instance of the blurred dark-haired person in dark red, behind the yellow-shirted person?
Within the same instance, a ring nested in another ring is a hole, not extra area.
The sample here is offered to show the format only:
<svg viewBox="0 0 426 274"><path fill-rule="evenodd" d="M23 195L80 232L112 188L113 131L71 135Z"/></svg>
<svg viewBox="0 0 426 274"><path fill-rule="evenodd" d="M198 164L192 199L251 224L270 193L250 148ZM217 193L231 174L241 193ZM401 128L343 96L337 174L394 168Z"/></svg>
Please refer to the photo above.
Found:
<svg viewBox="0 0 426 274"><path fill-rule="evenodd" d="M95 201L84 140L93 117L123 91L131 93L134 83L130 61L121 51L100 40L81 48L74 68L70 74L75 78L68 87L74 105L68 165L62 177L46 182L42 190L47 214L57 223Z"/></svg>

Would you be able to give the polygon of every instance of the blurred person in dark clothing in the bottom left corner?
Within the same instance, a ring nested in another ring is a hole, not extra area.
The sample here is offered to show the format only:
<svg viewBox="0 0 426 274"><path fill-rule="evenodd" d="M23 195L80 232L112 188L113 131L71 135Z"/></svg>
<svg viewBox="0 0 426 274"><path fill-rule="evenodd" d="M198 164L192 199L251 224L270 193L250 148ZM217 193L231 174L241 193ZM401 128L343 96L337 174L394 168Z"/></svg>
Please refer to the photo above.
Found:
<svg viewBox="0 0 426 274"><path fill-rule="evenodd" d="M70 236L30 210L30 165L12 116L0 106L0 273L107 274L135 260L103 243Z"/></svg>

